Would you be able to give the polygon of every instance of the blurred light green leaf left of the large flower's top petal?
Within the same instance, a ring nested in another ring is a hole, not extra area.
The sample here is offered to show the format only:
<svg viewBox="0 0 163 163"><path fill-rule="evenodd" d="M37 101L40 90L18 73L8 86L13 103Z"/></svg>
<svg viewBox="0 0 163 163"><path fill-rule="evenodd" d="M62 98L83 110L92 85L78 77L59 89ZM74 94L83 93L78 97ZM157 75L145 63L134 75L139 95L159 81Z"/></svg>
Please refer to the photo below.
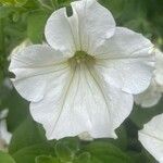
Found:
<svg viewBox="0 0 163 163"><path fill-rule="evenodd" d="M27 35L34 43L42 42L48 17L49 14L42 11L36 11L28 15Z"/></svg>

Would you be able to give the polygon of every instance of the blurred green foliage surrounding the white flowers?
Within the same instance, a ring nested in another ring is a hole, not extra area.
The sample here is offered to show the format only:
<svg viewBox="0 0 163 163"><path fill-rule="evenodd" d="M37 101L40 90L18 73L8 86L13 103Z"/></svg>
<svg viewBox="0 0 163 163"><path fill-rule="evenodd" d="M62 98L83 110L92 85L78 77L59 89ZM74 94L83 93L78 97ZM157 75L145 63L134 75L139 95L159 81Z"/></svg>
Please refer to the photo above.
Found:
<svg viewBox="0 0 163 163"><path fill-rule="evenodd" d="M156 163L138 141L138 130L154 115L156 106L134 106L130 116L117 128L118 139L78 138L48 141L45 130L29 115L28 102L12 87L9 55L25 39L45 41L49 15L71 0L0 0L0 110L9 109L8 129L13 134L9 153L0 152L1 163ZM118 26L142 33L163 50L163 0L99 0L114 15ZM12 156L12 158L11 158Z"/></svg>

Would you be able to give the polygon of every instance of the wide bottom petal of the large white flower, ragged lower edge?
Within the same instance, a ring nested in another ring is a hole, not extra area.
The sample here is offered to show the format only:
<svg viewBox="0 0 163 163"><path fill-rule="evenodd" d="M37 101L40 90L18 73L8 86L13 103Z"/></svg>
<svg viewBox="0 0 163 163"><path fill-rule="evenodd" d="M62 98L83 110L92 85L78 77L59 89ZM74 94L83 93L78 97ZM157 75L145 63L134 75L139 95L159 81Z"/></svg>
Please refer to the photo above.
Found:
<svg viewBox="0 0 163 163"><path fill-rule="evenodd" d="M116 88L103 88L91 73L80 64L67 78L53 76L45 98L30 103L30 113L43 125L48 139L85 131L93 138L116 137L114 129L130 113L133 96Z"/></svg>

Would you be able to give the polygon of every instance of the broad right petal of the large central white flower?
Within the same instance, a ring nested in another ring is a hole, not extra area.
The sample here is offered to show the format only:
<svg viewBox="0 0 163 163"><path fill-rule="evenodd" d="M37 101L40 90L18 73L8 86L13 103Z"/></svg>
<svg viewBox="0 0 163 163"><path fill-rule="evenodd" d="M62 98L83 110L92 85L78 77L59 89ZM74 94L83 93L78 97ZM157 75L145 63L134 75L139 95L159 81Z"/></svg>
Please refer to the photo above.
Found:
<svg viewBox="0 0 163 163"><path fill-rule="evenodd" d="M115 35L95 51L96 68L106 83L129 93L150 85L154 66L153 45L140 34L117 27Z"/></svg>

